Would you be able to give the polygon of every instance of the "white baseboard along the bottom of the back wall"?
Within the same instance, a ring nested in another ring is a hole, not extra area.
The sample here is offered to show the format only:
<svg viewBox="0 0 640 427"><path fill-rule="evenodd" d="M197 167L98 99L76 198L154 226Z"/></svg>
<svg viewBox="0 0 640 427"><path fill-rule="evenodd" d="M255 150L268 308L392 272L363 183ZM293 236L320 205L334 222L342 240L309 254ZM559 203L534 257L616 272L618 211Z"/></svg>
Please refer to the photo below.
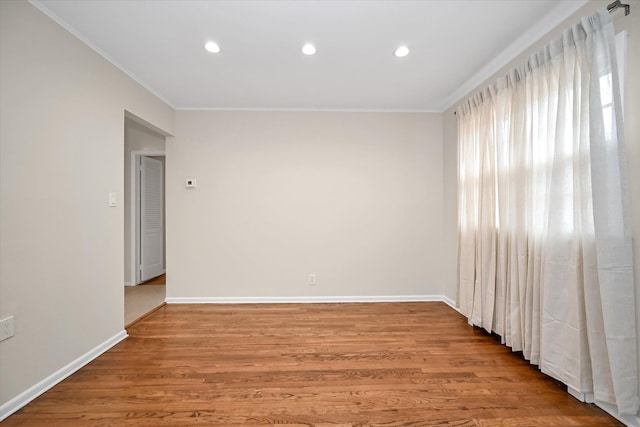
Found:
<svg viewBox="0 0 640 427"><path fill-rule="evenodd" d="M455 309L455 302L444 295L381 295L323 297L167 297L167 304L292 304L346 302L428 302L439 301ZM457 309L456 309L457 310Z"/></svg>

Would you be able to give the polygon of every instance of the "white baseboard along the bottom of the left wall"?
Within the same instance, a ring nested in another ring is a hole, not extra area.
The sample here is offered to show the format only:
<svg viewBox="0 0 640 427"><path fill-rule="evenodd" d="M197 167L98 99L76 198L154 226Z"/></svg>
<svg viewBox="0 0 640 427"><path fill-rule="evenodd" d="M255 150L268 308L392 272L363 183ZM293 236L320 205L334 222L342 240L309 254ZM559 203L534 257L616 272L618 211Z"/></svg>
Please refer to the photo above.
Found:
<svg viewBox="0 0 640 427"><path fill-rule="evenodd" d="M123 330L117 333L39 383L0 405L0 422L127 337L127 331Z"/></svg>

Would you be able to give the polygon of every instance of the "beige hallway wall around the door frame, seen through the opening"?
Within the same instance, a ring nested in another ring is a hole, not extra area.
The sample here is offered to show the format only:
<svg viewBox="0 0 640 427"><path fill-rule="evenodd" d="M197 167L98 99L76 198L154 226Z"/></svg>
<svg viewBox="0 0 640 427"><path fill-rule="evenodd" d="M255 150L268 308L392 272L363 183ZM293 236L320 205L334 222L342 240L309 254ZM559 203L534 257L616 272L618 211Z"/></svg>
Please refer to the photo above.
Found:
<svg viewBox="0 0 640 427"><path fill-rule="evenodd" d="M135 285L135 277L131 270L132 236L131 236L131 152L132 151L164 151L165 137L153 130L126 119L124 123L124 282ZM164 157L160 158L164 162Z"/></svg>

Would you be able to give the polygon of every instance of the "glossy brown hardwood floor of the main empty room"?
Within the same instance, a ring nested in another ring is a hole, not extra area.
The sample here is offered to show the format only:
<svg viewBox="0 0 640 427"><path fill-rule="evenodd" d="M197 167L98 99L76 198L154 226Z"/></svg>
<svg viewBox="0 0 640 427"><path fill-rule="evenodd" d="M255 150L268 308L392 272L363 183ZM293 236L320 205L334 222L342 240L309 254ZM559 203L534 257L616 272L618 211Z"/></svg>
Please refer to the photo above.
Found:
<svg viewBox="0 0 640 427"><path fill-rule="evenodd" d="M166 305L128 332L6 427L620 425L443 303Z"/></svg>

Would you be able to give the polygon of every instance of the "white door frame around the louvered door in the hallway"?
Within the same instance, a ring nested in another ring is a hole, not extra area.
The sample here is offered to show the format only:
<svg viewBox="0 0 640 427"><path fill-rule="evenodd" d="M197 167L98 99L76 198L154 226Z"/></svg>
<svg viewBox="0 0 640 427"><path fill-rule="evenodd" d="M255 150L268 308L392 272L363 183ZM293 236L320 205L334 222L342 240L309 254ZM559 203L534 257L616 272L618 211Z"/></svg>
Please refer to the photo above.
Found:
<svg viewBox="0 0 640 427"><path fill-rule="evenodd" d="M165 150L134 150L131 151L131 279L132 286L140 284L140 174L138 173L138 163L141 157L164 157L166 169L166 151ZM166 172L166 171L165 171ZM166 175L166 173L165 173ZM166 186L165 186L166 187ZM166 206L166 188L163 187L164 200ZM166 239L166 225L164 226ZM166 254L165 254L166 257ZM165 266L166 268L166 266Z"/></svg>

